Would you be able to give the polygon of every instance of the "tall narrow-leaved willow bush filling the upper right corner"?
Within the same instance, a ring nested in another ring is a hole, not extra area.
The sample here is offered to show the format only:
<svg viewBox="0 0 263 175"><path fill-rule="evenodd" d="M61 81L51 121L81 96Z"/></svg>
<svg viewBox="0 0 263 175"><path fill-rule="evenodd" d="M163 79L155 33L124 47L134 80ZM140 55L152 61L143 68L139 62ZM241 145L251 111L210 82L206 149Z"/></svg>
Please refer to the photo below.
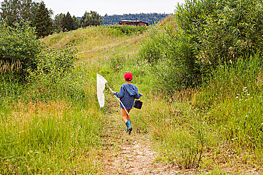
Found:
<svg viewBox="0 0 263 175"><path fill-rule="evenodd" d="M194 6L190 12L190 6ZM189 14L190 13L190 14ZM191 20L186 21L185 15ZM180 16L180 17L179 17ZM262 50L263 7L260 0L205 0L178 6L178 25L190 36L202 73L223 61ZM189 27L188 27L189 26Z"/></svg>

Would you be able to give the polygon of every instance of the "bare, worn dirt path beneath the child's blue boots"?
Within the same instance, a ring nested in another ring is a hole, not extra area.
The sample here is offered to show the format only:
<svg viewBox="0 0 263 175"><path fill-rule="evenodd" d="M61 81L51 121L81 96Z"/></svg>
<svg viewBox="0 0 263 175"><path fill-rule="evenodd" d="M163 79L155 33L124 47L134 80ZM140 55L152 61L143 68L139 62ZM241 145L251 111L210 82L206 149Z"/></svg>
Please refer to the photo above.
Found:
<svg viewBox="0 0 263 175"><path fill-rule="evenodd" d="M174 166L157 161L156 152L147 134L134 128L130 135L124 131L120 115L109 121L111 128L104 139L103 174L176 174Z"/></svg>

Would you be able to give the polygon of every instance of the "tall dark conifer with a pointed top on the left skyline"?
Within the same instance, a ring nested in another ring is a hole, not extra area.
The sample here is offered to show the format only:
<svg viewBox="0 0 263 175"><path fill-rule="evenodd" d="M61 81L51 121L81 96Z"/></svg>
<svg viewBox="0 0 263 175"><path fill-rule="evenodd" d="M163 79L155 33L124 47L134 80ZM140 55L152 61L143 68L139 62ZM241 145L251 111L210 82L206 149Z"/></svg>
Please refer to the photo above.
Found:
<svg viewBox="0 0 263 175"><path fill-rule="evenodd" d="M43 1L40 2L36 15L33 19L33 25L36 26L38 36L44 37L52 33L53 22L50 16L50 11Z"/></svg>

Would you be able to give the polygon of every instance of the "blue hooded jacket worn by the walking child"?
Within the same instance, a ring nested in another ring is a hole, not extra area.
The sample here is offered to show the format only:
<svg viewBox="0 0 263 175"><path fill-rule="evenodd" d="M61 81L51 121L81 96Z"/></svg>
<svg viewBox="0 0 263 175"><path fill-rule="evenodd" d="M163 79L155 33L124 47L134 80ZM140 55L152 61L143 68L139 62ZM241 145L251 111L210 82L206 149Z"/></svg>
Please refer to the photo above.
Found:
<svg viewBox="0 0 263 175"><path fill-rule="evenodd" d="M142 96L141 93L138 93L138 87L136 87L136 85L128 84L128 83L121 85L120 93L114 92L113 94L115 94L118 98L120 98L121 102L127 109L130 109L133 107L135 98L139 99ZM121 105L121 103L120 103L120 107L124 108Z"/></svg>

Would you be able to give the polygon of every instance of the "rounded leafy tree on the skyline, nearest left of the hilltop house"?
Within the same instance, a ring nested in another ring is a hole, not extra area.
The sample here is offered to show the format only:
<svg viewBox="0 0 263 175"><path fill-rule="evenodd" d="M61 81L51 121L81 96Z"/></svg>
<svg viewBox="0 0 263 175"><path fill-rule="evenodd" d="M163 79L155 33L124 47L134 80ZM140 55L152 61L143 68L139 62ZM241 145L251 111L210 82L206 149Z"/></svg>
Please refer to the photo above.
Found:
<svg viewBox="0 0 263 175"><path fill-rule="evenodd" d="M81 26L101 25L102 17L96 11L85 12L81 18Z"/></svg>

